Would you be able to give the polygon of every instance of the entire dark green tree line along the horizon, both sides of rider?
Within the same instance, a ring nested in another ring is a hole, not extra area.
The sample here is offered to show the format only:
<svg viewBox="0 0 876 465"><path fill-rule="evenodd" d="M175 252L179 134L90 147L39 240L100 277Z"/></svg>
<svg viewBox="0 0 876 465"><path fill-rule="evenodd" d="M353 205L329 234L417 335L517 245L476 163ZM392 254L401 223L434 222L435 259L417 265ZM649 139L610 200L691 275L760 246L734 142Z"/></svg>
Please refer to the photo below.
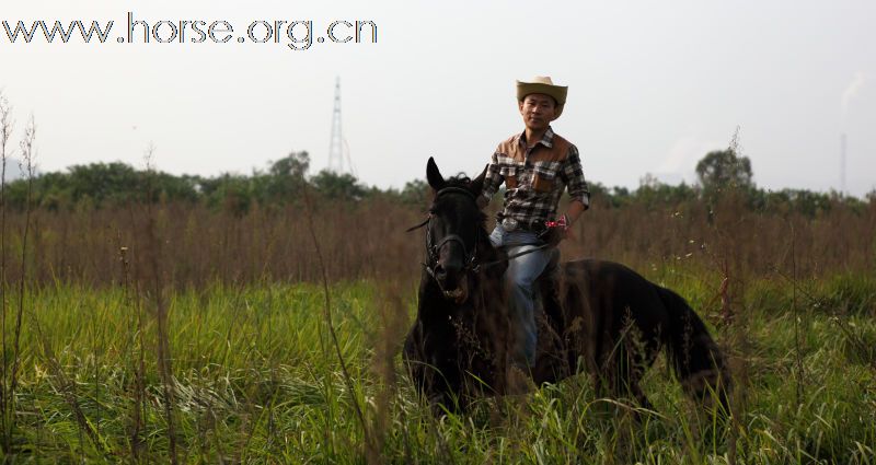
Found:
<svg viewBox="0 0 876 465"><path fill-rule="evenodd" d="M251 175L221 174L214 177L172 175L154 170L137 170L122 162L73 165L64 172L34 175L32 206L48 210L78 210L118 207L137 202L199 204L212 209L245 214L253 206L286 206L300 202L306 194L322 200L360 202L371 198L425 207L428 186L423 179L401 189L369 187L350 174L321 171L308 176L308 152L292 152L269 162L266 170ZM647 208L685 202L715 202L727 195L739 196L749 209L768 212L798 212L812 218L837 206L864 210L876 201L876 191L865 199L835 191L808 189L766 190L756 186L751 163L734 149L708 152L696 165L698 184L669 185L650 175L639 187L607 187L589 181L591 200L601 208L631 205ZM23 210L27 202L27 178L7 182L4 205ZM306 190L307 189L307 190Z"/></svg>

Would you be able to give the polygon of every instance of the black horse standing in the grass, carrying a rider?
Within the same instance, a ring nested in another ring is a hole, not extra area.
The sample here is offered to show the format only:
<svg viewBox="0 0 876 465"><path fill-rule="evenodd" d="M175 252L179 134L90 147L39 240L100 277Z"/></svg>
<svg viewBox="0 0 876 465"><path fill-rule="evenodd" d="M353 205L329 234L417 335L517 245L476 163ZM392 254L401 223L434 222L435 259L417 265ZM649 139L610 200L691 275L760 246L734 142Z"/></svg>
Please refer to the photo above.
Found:
<svg viewBox="0 0 876 465"><path fill-rule="evenodd" d="M427 263L403 356L431 405L453 410L479 396L517 391L506 356L514 337L503 277L507 255L492 246L475 201L484 173L445 179L433 159L426 173L435 197L427 221L412 230L426 226ZM638 383L666 348L684 392L701 400L717 394L726 409L724 356L681 297L611 261L565 263L558 274L558 287L542 288L553 289L553 299L537 305L534 383L586 371L597 392L648 406Z"/></svg>

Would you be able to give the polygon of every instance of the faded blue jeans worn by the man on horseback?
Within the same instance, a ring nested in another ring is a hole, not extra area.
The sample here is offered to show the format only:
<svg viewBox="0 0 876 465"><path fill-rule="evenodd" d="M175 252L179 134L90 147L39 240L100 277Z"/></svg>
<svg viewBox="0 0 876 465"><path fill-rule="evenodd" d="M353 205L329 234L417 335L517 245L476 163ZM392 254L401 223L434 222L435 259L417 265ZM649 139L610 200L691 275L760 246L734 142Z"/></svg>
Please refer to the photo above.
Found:
<svg viewBox="0 0 876 465"><path fill-rule="evenodd" d="M504 247L508 255L526 252L542 245L543 242L533 232L505 231L502 224L489 234L489 242L495 247ZM526 371L535 362L535 347L539 330L535 326L534 282L551 261L554 248L542 248L508 260L505 271L505 284L508 288L508 316L511 330L515 332L511 347L511 364Z"/></svg>

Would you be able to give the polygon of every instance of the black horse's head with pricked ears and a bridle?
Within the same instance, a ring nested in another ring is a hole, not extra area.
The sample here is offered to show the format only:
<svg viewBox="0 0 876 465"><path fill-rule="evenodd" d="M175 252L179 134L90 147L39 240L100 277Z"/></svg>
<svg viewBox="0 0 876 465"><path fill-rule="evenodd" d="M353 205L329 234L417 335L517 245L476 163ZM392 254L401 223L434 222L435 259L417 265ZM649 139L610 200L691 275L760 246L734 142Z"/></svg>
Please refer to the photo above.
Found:
<svg viewBox="0 0 876 465"><path fill-rule="evenodd" d="M435 194L426 223L426 269L445 297L458 304L468 299L468 271L477 266L485 217L476 199L485 174L486 170L473 181L464 176L445 179L435 160L429 158L426 166L426 178Z"/></svg>

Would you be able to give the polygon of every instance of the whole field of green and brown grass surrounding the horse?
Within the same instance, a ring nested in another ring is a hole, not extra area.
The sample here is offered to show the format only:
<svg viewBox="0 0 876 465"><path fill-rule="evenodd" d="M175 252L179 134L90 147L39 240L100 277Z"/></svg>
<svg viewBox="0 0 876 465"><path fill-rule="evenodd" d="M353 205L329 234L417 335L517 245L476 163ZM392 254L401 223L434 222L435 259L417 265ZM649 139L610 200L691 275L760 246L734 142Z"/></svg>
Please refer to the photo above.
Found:
<svg viewBox="0 0 876 465"><path fill-rule="evenodd" d="M729 356L729 420L685 398L662 357L653 411L576 376L433 416L400 358L418 208L8 213L9 463L876 464L873 200L812 217L733 198L597 206L563 244L691 302Z"/></svg>

